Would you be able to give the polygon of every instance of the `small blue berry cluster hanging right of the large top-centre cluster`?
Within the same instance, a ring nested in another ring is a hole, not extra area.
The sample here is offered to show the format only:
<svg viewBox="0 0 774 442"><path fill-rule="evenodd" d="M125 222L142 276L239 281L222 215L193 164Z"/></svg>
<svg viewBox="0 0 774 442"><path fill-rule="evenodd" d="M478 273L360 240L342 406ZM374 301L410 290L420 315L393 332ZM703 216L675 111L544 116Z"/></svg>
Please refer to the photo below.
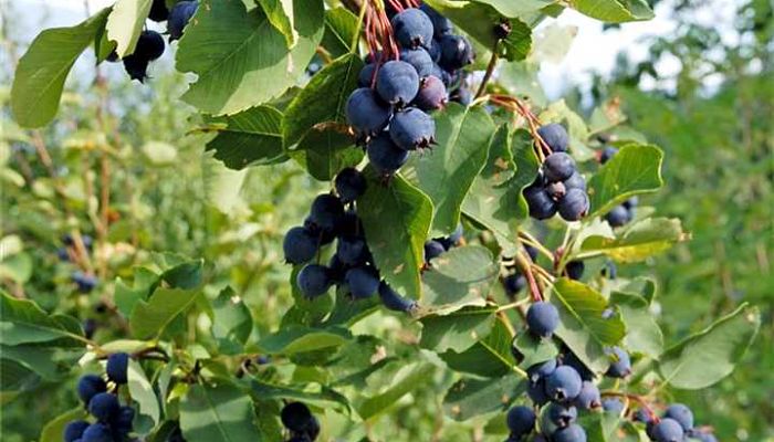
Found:
<svg viewBox="0 0 774 442"><path fill-rule="evenodd" d="M586 180L567 154L567 130L554 123L542 126L537 134L552 154L543 161L534 182L524 189L530 215L545 220L558 211L566 221L578 221L588 212L588 194Z"/></svg>

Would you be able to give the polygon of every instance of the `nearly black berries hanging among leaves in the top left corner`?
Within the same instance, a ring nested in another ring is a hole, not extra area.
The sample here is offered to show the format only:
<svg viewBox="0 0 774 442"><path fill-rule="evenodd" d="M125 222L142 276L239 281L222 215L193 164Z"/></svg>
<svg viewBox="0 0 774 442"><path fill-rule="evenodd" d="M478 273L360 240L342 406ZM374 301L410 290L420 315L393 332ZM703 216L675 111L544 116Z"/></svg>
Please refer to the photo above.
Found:
<svg viewBox="0 0 774 442"><path fill-rule="evenodd" d="M178 40L182 36L182 30L186 28L191 17L196 12L199 2L197 0L186 0L175 3L171 11L167 9L165 0L154 0L150 6L148 19L156 22L167 22L167 33L169 41ZM156 31L145 30L137 39L135 51L126 55L124 70L129 75L129 78L137 80L140 83L147 78L148 64L157 60L164 54L165 42L161 34ZM117 62L118 55L113 52L108 57L109 62Z"/></svg>

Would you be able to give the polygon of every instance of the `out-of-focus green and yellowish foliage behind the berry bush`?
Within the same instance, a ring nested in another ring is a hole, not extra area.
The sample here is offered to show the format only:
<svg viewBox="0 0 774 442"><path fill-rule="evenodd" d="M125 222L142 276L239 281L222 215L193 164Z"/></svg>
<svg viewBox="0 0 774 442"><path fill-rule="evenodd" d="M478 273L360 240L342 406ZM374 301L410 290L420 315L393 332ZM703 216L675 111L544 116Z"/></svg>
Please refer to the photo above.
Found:
<svg viewBox="0 0 774 442"><path fill-rule="evenodd" d="M692 21L697 8L702 1L676 2L678 32L649 41L646 61L632 63L623 54L611 78L596 77L566 99L588 113L613 99L631 127L666 150L667 188L648 203L681 218L693 240L621 273L658 280L662 327L672 343L740 302L761 307L762 333L740 368L712 388L676 399L700 410L720 440L774 440L774 14L768 0L744 2L734 18L736 39L729 44L713 28ZM6 33L4 53L11 59L18 53L13 43ZM659 73L666 57L677 59L680 69ZM93 75L85 77L88 83L76 78L57 120L34 133L9 118L10 64L3 70L3 288L49 311L94 320L95 339L108 340L111 330L125 327L111 303L113 281L130 277L133 265L151 265L154 251L174 250L207 260L209 290L231 285L261 329L279 326L274 312L284 312L292 298L282 235L304 218L322 183L292 162L233 171L202 155L210 135L187 133L194 114L177 99L185 82L171 69L157 69L151 86L104 72L95 84ZM606 141L616 130L598 135ZM103 199L109 201L107 210ZM88 257L57 257L63 235L72 231L94 238ZM71 282L77 269L94 270L97 290L77 293ZM410 339L398 322L379 320L379 335L391 330L396 341ZM442 419L439 401L450 381L438 373L378 421L384 429L362 431L425 440ZM36 439L38 422L61 412L63 402L76 403L74 379L59 388L36 382L27 387L45 393L17 399L0 392L3 441ZM470 440L454 439L448 427L446 440Z"/></svg>

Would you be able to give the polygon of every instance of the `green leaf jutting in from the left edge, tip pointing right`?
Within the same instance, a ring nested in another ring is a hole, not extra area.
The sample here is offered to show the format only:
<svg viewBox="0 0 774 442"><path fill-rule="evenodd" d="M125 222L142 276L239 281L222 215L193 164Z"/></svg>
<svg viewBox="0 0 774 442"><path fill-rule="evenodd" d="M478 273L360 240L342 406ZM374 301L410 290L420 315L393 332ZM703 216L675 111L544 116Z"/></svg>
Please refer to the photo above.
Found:
<svg viewBox="0 0 774 442"><path fill-rule="evenodd" d="M49 315L32 301L0 292L0 344L56 341L59 347L82 347L85 338L76 319Z"/></svg>

